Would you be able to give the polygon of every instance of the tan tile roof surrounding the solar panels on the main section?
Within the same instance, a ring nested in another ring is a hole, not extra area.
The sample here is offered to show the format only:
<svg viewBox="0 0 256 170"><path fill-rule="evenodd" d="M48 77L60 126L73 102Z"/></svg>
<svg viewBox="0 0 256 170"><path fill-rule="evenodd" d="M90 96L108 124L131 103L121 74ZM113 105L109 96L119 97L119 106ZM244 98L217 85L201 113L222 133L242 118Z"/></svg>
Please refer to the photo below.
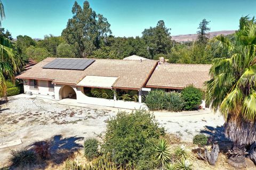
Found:
<svg viewBox="0 0 256 170"><path fill-rule="evenodd" d="M43 69L55 58L46 58L31 69L19 74L19 79L52 80L57 84L77 84L86 75L118 77L113 88L140 89L145 86L157 61L127 61L96 59L85 70ZM76 58L77 59L77 58ZM81 58L80 60L83 60Z"/></svg>

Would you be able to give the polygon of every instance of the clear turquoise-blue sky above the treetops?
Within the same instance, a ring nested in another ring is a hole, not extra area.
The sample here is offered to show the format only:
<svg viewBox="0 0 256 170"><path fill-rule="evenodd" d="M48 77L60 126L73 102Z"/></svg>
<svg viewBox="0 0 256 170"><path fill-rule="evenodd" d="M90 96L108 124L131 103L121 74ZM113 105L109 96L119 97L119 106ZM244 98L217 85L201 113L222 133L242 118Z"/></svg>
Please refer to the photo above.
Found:
<svg viewBox="0 0 256 170"><path fill-rule="evenodd" d="M13 38L27 35L44 38L60 36L72 18L73 0L2 0L2 27ZM77 1L81 6L84 1ZM204 18L211 31L237 30L241 16L256 15L255 0L89 0L92 9L105 16L114 36L141 36L145 28L164 20L171 35L196 33Z"/></svg>

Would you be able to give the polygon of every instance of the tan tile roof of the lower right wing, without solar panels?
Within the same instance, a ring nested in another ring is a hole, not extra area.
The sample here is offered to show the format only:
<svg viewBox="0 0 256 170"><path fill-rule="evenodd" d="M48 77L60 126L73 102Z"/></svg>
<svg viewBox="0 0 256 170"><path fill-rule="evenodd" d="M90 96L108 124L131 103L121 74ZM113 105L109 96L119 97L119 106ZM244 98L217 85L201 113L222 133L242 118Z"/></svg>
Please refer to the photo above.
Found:
<svg viewBox="0 0 256 170"><path fill-rule="evenodd" d="M204 89L204 82L210 80L210 64L159 64L146 87L183 89L193 84Z"/></svg>

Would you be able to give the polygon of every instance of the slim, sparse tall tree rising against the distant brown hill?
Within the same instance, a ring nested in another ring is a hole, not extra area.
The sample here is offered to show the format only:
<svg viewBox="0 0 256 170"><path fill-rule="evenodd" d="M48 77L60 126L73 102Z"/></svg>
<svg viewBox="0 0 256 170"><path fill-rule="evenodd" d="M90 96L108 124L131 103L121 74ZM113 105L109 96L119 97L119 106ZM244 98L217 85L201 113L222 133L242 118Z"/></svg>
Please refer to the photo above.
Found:
<svg viewBox="0 0 256 170"><path fill-rule="evenodd" d="M210 21L206 21L206 19L203 19L202 22L199 23L199 27L197 28L199 29L197 31L197 40L199 43L207 43L207 40L209 39L208 32L211 30L211 28L208 27L209 23Z"/></svg>

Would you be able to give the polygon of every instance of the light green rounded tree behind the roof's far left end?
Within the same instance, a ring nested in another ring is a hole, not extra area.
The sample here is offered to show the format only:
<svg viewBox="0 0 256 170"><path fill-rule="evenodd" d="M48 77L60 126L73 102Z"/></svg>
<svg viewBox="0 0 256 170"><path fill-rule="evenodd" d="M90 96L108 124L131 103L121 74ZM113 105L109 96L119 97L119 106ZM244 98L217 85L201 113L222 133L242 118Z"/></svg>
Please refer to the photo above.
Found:
<svg viewBox="0 0 256 170"><path fill-rule="evenodd" d="M36 62L41 62L46 57L52 57L52 55L45 48L39 48L30 46L25 50L25 55L29 56L32 60Z"/></svg>

